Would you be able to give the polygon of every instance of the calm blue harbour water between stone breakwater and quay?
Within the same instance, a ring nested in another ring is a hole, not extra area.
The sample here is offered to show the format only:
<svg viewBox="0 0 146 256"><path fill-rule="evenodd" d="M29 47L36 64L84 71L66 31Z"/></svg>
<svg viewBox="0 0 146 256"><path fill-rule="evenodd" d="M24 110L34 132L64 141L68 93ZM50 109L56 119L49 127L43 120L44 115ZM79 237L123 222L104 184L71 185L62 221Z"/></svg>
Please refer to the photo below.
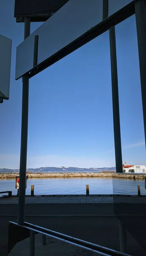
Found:
<svg viewBox="0 0 146 256"><path fill-rule="evenodd" d="M26 195L31 194L34 185L35 195L67 195L85 194L86 184L90 186L90 194L126 194L137 195L140 185L141 195L146 195L144 180L111 179L111 178L34 178L27 180ZM0 191L11 190L17 194L14 179L0 179ZM0 194L2 196L2 194Z"/></svg>

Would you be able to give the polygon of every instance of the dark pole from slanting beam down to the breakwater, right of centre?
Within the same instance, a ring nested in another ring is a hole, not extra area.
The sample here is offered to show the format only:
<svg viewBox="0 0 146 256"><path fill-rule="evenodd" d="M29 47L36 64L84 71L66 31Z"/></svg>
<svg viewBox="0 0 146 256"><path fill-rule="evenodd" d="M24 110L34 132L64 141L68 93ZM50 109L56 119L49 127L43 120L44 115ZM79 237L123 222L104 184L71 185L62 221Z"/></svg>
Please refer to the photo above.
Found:
<svg viewBox="0 0 146 256"><path fill-rule="evenodd" d="M115 141L115 164L116 172L122 173L122 148L121 148L121 129L120 129L120 113L119 113L119 97L118 97L118 72L117 72L117 55L115 41L115 27L109 30L110 35L110 62L112 77L112 111L114 125L114 141Z"/></svg>

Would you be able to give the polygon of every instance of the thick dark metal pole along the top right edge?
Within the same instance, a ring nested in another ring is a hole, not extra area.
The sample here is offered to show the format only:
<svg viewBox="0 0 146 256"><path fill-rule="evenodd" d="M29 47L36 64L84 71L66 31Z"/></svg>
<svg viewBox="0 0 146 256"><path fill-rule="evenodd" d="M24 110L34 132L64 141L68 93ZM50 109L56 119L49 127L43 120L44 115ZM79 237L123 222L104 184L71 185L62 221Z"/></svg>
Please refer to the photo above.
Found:
<svg viewBox="0 0 146 256"><path fill-rule="evenodd" d="M135 17L138 37L140 82L143 105L143 123L146 144L146 1L135 0Z"/></svg>

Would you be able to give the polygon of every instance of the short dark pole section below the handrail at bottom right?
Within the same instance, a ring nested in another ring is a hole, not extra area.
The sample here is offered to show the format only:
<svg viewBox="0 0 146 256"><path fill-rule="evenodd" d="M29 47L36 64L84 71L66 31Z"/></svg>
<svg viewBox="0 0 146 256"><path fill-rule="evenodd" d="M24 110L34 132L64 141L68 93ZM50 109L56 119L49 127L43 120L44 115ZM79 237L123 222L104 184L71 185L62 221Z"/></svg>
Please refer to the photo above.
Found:
<svg viewBox="0 0 146 256"><path fill-rule="evenodd" d="M126 228L119 220L120 251L126 253Z"/></svg>

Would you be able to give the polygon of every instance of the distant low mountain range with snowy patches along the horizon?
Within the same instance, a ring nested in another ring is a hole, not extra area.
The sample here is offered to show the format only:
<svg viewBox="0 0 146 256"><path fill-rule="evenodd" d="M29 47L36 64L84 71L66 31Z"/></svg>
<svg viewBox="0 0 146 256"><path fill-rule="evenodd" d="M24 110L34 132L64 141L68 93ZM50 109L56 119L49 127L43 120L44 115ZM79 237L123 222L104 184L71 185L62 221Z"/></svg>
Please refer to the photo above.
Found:
<svg viewBox="0 0 146 256"><path fill-rule="evenodd" d="M113 172L115 171L115 167L102 167L102 168L78 168L78 167L40 167L40 168L28 168L27 172ZM0 169L0 173L11 173L11 172L19 172L19 169Z"/></svg>

